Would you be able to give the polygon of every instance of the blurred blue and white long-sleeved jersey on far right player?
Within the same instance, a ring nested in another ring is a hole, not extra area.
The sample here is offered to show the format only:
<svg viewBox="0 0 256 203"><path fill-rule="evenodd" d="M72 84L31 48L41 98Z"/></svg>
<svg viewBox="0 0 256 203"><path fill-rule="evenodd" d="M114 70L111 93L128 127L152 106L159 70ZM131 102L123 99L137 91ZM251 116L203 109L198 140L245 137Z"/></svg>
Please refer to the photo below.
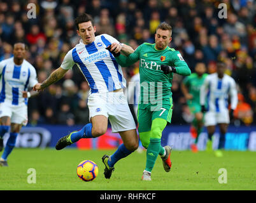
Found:
<svg viewBox="0 0 256 203"><path fill-rule="evenodd" d="M238 92L236 82L232 77L224 74L222 79L218 74L210 74L204 80L200 90L200 104L205 105L211 112L225 112L228 108L228 98L231 96L231 108L234 110L238 105Z"/></svg>

